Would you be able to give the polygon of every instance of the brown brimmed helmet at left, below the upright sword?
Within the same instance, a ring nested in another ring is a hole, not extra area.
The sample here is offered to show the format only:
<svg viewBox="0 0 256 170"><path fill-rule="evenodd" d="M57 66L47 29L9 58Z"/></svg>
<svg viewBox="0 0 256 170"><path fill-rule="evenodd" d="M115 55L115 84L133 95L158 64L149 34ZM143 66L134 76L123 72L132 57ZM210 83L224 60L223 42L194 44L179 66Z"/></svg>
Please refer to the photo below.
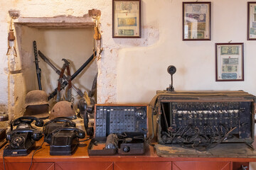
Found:
<svg viewBox="0 0 256 170"><path fill-rule="evenodd" d="M26 111L23 115L33 115L36 118L48 118L49 104L45 91L33 90L26 94L25 106Z"/></svg>

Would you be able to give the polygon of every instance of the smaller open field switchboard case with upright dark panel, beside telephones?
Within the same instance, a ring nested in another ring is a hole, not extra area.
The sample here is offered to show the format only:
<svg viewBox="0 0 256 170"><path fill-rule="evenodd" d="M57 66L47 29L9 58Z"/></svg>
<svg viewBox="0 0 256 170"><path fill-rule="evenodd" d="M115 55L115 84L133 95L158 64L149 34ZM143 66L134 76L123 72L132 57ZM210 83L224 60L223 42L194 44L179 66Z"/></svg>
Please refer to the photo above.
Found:
<svg viewBox="0 0 256 170"><path fill-rule="evenodd" d="M95 105L95 134L88 154L144 154L147 113L147 105Z"/></svg>

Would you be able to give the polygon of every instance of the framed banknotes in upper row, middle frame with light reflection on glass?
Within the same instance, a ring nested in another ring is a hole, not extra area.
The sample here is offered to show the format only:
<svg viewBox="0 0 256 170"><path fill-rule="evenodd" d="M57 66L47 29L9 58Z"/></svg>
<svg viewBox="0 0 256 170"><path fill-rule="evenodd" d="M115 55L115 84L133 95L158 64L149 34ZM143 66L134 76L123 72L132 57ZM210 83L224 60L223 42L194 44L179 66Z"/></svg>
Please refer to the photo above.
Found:
<svg viewBox="0 0 256 170"><path fill-rule="evenodd" d="M210 40L210 2L183 2L182 40Z"/></svg>

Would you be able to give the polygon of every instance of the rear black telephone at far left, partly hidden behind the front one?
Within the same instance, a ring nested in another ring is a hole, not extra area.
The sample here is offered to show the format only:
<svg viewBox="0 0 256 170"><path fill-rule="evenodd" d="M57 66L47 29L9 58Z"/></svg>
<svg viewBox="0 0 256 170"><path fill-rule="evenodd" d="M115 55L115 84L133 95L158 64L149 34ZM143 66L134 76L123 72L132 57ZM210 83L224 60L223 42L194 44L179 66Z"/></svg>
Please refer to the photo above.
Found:
<svg viewBox="0 0 256 170"><path fill-rule="evenodd" d="M36 118L33 116L22 116L20 118L17 118L13 122L11 122L11 130L14 129L14 126L17 126L16 129L24 129L24 128L33 129L33 127L31 126L31 123L34 120L36 120L36 123L35 123L36 126L43 127L43 120L41 120L40 118Z"/></svg>

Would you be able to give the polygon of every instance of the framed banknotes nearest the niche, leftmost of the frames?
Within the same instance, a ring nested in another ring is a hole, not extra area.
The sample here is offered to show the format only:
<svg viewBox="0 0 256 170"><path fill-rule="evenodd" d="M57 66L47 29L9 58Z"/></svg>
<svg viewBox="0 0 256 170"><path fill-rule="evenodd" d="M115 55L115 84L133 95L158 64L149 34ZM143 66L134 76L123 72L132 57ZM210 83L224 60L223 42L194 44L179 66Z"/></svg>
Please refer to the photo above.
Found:
<svg viewBox="0 0 256 170"><path fill-rule="evenodd" d="M141 0L113 0L113 38L141 38Z"/></svg>

